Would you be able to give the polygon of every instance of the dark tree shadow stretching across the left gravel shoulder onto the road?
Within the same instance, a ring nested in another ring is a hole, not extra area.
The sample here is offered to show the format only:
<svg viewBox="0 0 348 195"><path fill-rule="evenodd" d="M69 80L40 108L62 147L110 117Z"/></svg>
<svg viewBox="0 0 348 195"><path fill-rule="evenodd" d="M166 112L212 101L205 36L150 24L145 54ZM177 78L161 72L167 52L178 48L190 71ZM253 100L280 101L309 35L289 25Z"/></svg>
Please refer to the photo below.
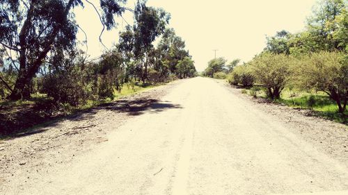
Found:
<svg viewBox="0 0 348 195"><path fill-rule="evenodd" d="M25 112L18 112L11 115L10 119L1 117L0 112L0 139L15 139L38 133L43 133L49 128L58 126L60 121L84 121L93 119L97 112L101 110L111 110L113 112L124 112L127 115L138 116L146 112L159 113L168 109L181 109L179 104L168 101L161 102L158 99L120 99L111 103L104 103L95 108L79 111L73 115L45 116L38 115L40 110L37 108L27 108ZM3 115L5 116L5 115Z"/></svg>

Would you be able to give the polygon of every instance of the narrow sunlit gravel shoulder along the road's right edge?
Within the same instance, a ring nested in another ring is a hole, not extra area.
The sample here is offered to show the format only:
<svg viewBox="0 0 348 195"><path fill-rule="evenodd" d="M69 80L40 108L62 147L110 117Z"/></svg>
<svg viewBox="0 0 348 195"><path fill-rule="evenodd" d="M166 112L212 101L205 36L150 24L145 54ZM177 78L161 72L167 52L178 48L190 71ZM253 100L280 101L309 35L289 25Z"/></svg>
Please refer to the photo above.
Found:
<svg viewBox="0 0 348 195"><path fill-rule="evenodd" d="M273 115L276 120L292 130L292 133L303 137L319 151L324 151L348 167L348 128L344 124L315 117L311 115L310 110L299 110L264 99L254 99L252 96L242 94L242 89L231 87L224 80L216 82L225 85L230 92L240 98L251 101L253 108Z"/></svg>

